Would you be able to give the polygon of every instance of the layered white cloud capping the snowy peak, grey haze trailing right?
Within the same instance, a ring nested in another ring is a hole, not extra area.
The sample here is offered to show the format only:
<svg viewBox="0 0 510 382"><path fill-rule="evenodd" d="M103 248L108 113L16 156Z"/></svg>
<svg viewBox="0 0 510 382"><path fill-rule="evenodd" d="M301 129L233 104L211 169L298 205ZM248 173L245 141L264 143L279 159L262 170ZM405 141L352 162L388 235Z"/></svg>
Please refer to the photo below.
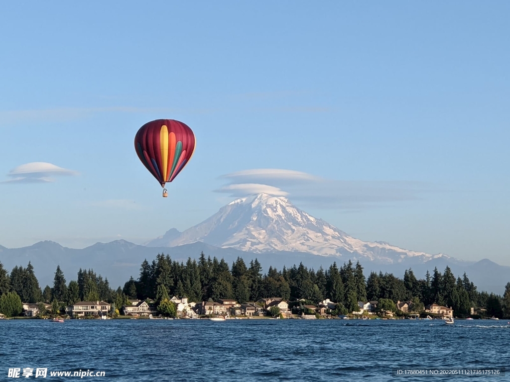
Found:
<svg viewBox="0 0 510 382"><path fill-rule="evenodd" d="M223 175L230 181L216 192L244 197L257 193L288 196L293 201L316 208L360 210L413 201L437 190L429 184L411 181L331 180L283 169L252 169Z"/></svg>

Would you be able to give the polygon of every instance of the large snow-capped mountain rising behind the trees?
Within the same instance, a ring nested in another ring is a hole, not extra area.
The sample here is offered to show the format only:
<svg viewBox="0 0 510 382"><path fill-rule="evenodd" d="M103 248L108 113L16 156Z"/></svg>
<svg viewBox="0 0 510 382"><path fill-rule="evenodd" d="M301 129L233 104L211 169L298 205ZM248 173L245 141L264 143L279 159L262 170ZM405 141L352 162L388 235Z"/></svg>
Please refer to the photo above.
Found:
<svg viewBox="0 0 510 382"><path fill-rule="evenodd" d="M175 247L197 241L245 252L302 252L382 263L401 262L411 257L423 262L447 257L353 238L295 207L287 198L267 194L235 200L202 223L184 232L173 228L145 245Z"/></svg>

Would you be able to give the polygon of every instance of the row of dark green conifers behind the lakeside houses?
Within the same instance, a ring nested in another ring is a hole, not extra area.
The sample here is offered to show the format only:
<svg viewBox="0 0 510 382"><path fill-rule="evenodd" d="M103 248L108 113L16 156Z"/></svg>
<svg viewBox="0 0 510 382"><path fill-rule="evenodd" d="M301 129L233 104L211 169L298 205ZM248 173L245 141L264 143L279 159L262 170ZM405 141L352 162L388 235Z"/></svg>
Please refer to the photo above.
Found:
<svg viewBox="0 0 510 382"><path fill-rule="evenodd" d="M14 267L10 276L0 263L0 295L11 291L23 302L56 301L61 306L104 300L120 308L129 298L151 298L159 306L171 295L187 296L195 302L234 298L240 303L282 297L287 301L303 298L311 303L329 298L340 304L339 311L351 312L359 309L359 301L384 299L394 303L411 301L415 310L437 303L452 307L456 316L468 315L471 307L486 307L490 315L510 317L510 283L503 296L479 292L466 274L455 278L449 267L443 273L437 268L432 275L427 271L423 279L417 279L412 269L404 272L403 279L382 272L371 272L366 279L361 264L353 265L349 260L340 267L335 262L326 270L320 267L317 271L302 263L282 270L269 267L263 275L257 259L247 266L238 257L229 266L224 259L206 258L203 252L198 261L189 258L186 264L164 254L158 254L150 263L144 260L138 279L131 277L117 290L92 269L80 269L77 280L66 283L59 266L53 287L41 290L30 262L26 268Z"/></svg>

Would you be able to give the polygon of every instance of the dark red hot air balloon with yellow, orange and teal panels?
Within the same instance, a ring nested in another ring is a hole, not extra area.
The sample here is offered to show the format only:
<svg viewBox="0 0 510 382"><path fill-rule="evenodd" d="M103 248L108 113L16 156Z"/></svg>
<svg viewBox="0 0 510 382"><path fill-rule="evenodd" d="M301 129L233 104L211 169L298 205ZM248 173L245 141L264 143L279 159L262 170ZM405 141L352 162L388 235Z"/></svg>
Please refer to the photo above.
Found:
<svg viewBox="0 0 510 382"><path fill-rule="evenodd" d="M140 127L135 150L143 165L163 187L175 179L195 151L195 134L186 124L173 119L157 119Z"/></svg>

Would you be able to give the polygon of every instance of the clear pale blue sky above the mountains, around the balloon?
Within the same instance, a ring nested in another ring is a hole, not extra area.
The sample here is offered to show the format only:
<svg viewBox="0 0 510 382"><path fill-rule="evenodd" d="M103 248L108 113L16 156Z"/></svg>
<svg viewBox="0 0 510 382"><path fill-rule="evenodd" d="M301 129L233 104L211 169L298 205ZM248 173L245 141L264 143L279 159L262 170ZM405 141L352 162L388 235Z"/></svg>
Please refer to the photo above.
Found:
<svg viewBox="0 0 510 382"><path fill-rule="evenodd" d="M354 237L510 265L509 11L6 3L0 244L141 243L257 183ZM159 118L197 139L167 199L133 145ZM72 173L15 174L32 162Z"/></svg>

